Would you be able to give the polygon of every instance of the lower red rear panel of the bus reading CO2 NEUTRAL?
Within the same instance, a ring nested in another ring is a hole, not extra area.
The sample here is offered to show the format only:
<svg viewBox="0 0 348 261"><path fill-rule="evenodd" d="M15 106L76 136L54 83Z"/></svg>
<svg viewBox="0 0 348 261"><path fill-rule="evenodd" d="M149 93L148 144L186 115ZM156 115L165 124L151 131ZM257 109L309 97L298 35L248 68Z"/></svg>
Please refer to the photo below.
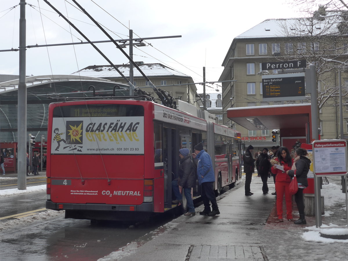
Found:
<svg viewBox="0 0 348 261"><path fill-rule="evenodd" d="M54 203L140 205L144 180L51 179Z"/></svg>

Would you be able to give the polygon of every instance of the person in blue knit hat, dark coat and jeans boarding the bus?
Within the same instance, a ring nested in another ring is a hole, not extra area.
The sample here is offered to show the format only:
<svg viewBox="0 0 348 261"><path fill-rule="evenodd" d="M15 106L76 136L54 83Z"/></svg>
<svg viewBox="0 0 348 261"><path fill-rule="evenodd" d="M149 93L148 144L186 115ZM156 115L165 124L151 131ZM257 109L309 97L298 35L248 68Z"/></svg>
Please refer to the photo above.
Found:
<svg viewBox="0 0 348 261"><path fill-rule="evenodd" d="M193 200L191 195L191 188L196 185L195 167L190 158L190 150L182 148L179 150L180 166L179 166L179 179L172 181L172 189L174 191L176 200L172 201L173 204L178 204L182 200L182 196L179 189L184 190L184 195L187 200L188 212L185 216L194 216L195 207L193 206Z"/></svg>

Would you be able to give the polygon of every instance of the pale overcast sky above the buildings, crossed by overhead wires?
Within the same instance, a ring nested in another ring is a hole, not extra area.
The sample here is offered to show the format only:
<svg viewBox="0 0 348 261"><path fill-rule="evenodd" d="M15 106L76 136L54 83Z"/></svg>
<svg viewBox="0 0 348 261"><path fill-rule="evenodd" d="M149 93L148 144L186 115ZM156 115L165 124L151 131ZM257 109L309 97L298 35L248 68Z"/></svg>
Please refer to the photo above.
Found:
<svg viewBox="0 0 348 261"><path fill-rule="evenodd" d="M134 61L162 63L190 75L195 82L203 81L203 66L207 81L219 79L222 61L232 40L239 34L265 19L301 16L285 0L93 1L78 0L78 3L111 30L109 33L114 39L128 38L129 28L134 38L182 35L181 38L147 40L153 47L134 48ZM68 23L43 0L26 2L32 5L26 6L26 46L86 41L73 28L70 34ZM108 40L72 0L50 2L63 15L68 14L72 23L91 41ZM18 48L19 6L11 9L18 3L19 0L2 1L1 50ZM128 63L114 44L97 46L114 64ZM129 52L128 48L124 50ZM18 74L18 54L0 52L0 74ZM108 64L90 45L29 48L26 57L28 76L71 74L89 65Z"/></svg>

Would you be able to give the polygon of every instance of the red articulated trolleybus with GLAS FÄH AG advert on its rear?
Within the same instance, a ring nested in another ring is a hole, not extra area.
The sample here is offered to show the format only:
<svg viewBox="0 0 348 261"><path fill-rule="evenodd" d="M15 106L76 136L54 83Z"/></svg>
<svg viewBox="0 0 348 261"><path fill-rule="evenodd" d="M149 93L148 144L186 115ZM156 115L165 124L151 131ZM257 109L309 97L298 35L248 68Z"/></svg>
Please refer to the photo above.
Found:
<svg viewBox="0 0 348 261"><path fill-rule="evenodd" d="M177 207L171 182L179 149L192 152L199 142L212 157L216 193L234 187L240 133L203 118L116 97L50 104L46 208L90 220L145 220L166 212ZM198 182L192 195L200 196Z"/></svg>

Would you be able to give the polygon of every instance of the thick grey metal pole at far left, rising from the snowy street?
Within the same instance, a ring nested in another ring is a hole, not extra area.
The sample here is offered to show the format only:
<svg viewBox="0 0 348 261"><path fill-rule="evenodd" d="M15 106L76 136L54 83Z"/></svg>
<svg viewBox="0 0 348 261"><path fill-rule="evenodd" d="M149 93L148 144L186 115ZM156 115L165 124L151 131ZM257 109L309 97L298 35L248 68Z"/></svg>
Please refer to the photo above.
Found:
<svg viewBox="0 0 348 261"><path fill-rule="evenodd" d="M19 2L19 83L18 83L18 189L26 189L26 84L25 84L25 0Z"/></svg>

